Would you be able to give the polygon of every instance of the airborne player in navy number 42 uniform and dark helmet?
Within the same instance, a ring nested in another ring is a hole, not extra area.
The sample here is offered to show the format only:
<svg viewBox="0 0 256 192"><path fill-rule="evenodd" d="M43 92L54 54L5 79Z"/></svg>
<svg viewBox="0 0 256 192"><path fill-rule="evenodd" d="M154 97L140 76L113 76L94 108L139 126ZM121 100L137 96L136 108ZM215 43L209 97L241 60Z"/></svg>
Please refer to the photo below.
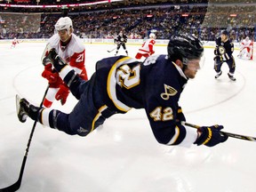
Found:
<svg viewBox="0 0 256 192"><path fill-rule="evenodd" d="M196 130L182 124L186 119L178 103L180 93L200 68L203 45L195 36L180 35L171 38L167 50L168 55L153 55L144 62L127 56L99 60L89 81L76 76L51 50L43 63L52 63L79 101L66 114L57 109L38 108L21 99L20 122L29 116L70 135L86 136L110 116L124 114L131 108L145 108L152 132L161 144L212 147L226 141L228 136L220 134L222 125Z"/></svg>

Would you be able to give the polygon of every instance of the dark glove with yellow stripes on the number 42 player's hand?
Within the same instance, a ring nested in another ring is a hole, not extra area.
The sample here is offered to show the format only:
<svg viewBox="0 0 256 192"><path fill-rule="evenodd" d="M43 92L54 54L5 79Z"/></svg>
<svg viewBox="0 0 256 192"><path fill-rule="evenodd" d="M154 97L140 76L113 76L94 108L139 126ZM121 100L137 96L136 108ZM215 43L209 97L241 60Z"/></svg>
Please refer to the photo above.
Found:
<svg viewBox="0 0 256 192"><path fill-rule="evenodd" d="M212 125L212 126L202 126L197 129L199 137L194 142L194 144L205 145L208 147L215 146L221 142L228 140L228 135L225 133L220 133L220 130L223 129L222 125Z"/></svg>

